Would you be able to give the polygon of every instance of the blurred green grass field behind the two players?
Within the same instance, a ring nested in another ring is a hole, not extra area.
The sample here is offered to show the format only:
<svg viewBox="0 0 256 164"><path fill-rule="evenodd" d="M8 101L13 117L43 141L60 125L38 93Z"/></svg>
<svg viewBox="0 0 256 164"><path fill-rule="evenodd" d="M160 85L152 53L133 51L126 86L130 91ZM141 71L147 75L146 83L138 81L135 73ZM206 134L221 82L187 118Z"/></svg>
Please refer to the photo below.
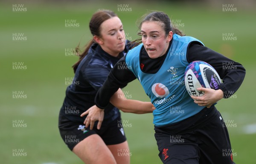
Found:
<svg viewBox="0 0 256 164"><path fill-rule="evenodd" d="M75 48L79 41L83 46L90 40L88 22L91 15L98 8L108 8L119 15L130 40L137 39L135 21L147 9L164 11L186 35L198 38L207 47L244 65L247 70L244 83L234 97L221 100L217 108L230 122L228 129L234 161L255 164L256 56L252 48L256 38L256 12L236 4L236 12L223 12L222 5L212 8L123 1L125 7L119 4L0 4L0 163L82 163L66 147L58 131L58 112L67 88L66 79L73 77L71 66L77 61L76 56L68 56L65 52ZM14 12L13 8L24 12ZM120 11L124 8L129 11ZM66 27L65 20L75 21L78 24L73 25L77 27ZM224 40L223 34L233 35L233 39ZM124 90L132 99L148 101L137 81ZM125 128L131 164L161 163L152 118L151 114L122 113L122 119L132 125ZM248 125L251 128L246 131Z"/></svg>

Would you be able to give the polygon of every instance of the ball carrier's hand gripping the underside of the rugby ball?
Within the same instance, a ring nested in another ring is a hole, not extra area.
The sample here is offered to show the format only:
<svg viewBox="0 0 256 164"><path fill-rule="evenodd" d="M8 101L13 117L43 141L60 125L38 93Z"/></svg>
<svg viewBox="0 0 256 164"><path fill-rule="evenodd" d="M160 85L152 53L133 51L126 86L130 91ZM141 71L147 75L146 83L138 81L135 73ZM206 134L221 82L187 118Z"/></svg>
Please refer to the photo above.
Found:
<svg viewBox="0 0 256 164"><path fill-rule="evenodd" d="M191 98L194 99L194 102L199 106L206 106L209 108L212 106L212 104L223 98L223 91L220 89L214 90L209 88L197 88L197 90L204 91L204 96L191 96Z"/></svg>

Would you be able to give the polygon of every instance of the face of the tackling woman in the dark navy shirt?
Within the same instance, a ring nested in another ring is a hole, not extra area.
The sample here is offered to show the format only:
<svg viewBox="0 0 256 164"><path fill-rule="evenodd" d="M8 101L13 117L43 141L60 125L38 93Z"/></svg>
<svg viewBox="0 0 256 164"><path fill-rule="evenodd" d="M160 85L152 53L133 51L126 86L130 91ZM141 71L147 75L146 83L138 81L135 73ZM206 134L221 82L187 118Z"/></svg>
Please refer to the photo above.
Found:
<svg viewBox="0 0 256 164"><path fill-rule="evenodd" d="M112 17L100 25L99 45L108 54L117 57L125 49L125 31L119 17Z"/></svg>

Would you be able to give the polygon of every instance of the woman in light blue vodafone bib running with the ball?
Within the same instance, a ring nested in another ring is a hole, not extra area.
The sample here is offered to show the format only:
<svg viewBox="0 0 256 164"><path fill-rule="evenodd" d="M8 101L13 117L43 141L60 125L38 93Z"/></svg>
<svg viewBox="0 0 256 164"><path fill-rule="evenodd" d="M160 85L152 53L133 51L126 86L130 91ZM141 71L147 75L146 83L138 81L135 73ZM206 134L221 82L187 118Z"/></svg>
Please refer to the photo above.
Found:
<svg viewBox="0 0 256 164"><path fill-rule="evenodd" d="M163 12L148 14L140 24L140 33L143 44L119 60L129 69L120 73L113 67L96 94L96 106L81 115L88 114L86 127L101 118L102 109L118 88L137 78L156 107L155 139L164 164L233 164L227 127L214 104L238 90L245 76L243 66L184 36ZM204 96L189 96L182 82L186 66L195 60L215 68L223 79L218 90L198 88ZM224 62L232 62L236 70L222 69Z"/></svg>

